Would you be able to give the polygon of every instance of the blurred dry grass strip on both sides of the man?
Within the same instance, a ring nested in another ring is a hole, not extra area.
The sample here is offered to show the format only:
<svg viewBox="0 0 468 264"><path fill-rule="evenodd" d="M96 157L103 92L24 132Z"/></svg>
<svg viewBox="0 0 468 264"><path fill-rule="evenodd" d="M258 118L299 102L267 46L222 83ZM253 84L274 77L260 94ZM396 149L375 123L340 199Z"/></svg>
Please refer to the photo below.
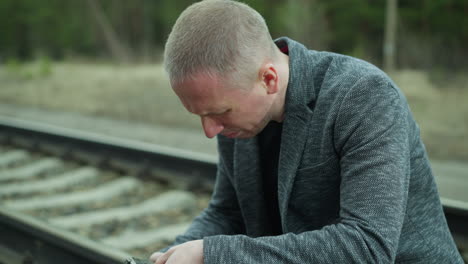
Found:
<svg viewBox="0 0 468 264"><path fill-rule="evenodd" d="M174 128L200 128L170 89L160 65L56 63L48 76L24 77L34 64L0 68L0 102L75 111ZM435 85L421 71L392 74L408 97L431 158L468 161L468 79Z"/></svg>

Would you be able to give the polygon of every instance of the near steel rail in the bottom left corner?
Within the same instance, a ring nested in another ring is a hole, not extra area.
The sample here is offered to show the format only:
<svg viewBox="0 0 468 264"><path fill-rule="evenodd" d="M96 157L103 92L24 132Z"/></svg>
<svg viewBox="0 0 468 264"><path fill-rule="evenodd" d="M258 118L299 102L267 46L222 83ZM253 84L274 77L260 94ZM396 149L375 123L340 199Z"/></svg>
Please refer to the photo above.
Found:
<svg viewBox="0 0 468 264"><path fill-rule="evenodd" d="M0 262L121 264L128 255L0 207Z"/></svg>

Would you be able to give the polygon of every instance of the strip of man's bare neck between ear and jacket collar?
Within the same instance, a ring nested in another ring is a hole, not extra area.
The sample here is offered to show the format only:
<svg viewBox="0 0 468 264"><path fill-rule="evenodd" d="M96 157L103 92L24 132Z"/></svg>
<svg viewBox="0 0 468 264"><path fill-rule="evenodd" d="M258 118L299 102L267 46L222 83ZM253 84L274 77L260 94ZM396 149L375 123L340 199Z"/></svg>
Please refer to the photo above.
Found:
<svg viewBox="0 0 468 264"><path fill-rule="evenodd" d="M286 101L286 90L289 83L289 56L280 52L278 56L279 65L279 91L278 96L273 103L272 120L283 122L284 120L284 105Z"/></svg>

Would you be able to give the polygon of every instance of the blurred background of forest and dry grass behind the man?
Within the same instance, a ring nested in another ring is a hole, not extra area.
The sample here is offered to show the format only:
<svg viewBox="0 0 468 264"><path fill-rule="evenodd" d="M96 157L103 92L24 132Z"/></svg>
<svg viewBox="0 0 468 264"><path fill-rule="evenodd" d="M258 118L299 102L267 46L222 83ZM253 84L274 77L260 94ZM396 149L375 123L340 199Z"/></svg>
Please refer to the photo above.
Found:
<svg viewBox="0 0 468 264"><path fill-rule="evenodd" d="M172 25L193 2L1 0L0 102L199 129L160 66ZM265 17L274 38L289 36L388 70L409 99L430 155L468 161L468 1L244 2ZM397 9L389 28L391 2ZM391 68L384 67L389 36Z"/></svg>

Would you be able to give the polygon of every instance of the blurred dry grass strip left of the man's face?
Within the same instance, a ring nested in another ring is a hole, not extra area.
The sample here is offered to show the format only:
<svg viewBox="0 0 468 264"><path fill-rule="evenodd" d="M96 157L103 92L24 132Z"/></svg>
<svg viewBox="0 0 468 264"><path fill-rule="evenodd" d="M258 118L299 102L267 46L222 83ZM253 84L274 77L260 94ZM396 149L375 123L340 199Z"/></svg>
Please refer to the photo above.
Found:
<svg viewBox="0 0 468 264"><path fill-rule="evenodd" d="M26 65L21 71L34 72L33 67ZM199 119L188 114L172 92L160 65L57 63L49 76L22 76L8 68L0 70L0 102L200 127Z"/></svg>

